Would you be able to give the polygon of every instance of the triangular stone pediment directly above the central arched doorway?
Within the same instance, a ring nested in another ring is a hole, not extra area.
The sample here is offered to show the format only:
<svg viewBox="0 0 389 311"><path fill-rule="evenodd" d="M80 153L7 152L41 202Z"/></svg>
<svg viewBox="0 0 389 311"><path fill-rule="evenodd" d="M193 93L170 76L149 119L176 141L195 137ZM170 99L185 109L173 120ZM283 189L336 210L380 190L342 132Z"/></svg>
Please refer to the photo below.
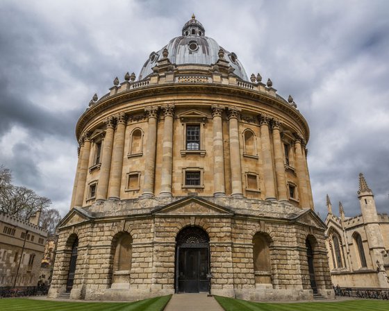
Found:
<svg viewBox="0 0 389 311"><path fill-rule="evenodd" d="M233 215L233 211L215 203L188 196L174 203L170 203L153 212L156 215Z"/></svg>

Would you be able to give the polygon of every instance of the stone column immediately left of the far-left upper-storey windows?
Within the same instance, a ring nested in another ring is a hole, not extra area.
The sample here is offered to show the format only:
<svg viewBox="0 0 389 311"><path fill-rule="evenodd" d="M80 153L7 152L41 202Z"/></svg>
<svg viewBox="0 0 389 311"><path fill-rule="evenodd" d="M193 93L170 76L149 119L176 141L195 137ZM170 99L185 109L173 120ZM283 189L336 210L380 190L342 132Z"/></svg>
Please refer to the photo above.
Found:
<svg viewBox="0 0 389 311"><path fill-rule="evenodd" d="M74 199L74 206L83 205L86 176L88 174L88 166L89 166L89 154L90 154L90 140L87 135L83 135L83 137L81 138L81 151L80 151L81 164L80 164L80 168L78 169L78 181L77 181L76 199Z"/></svg>

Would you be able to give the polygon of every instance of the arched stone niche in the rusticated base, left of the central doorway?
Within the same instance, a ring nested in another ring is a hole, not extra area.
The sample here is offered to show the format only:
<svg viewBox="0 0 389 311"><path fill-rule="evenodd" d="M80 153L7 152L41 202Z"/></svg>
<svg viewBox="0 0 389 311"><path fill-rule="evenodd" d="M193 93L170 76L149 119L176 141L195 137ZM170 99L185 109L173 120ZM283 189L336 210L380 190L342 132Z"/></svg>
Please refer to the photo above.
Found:
<svg viewBox="0 0 389 311"><path fill-rule="evenodd" d="M113 288L115 284L130 285L130 272L132 262L132 243L133 239L129 233L122 232L113 238Z"/></svg>

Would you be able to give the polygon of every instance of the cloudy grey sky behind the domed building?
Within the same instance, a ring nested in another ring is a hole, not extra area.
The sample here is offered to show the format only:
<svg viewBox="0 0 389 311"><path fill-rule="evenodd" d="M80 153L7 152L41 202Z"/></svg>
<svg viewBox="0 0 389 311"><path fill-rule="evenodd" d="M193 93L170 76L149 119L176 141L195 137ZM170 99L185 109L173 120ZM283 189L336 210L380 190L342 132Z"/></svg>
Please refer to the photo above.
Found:
<svg viewBox="0 0 389 311"><path fill-rule="evenodd" d="M248 75L292 94L311 128L315 209L360 212L358 173L389 212L388 1L0 2L0 164L69 208L74 126L115 76L140 68L195 12Z"/></svg>

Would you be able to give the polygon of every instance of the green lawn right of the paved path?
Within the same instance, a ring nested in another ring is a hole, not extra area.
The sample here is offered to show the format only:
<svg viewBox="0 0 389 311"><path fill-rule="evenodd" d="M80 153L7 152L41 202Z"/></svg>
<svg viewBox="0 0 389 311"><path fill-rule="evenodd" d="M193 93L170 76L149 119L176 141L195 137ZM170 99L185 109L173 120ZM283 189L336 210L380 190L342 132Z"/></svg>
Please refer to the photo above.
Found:
<svg viewBox="0 0 389 311"><path fill-rule="evenodd" d="M352 300L337 303L253 303L240 299L215 296L226 311L386 311L389 301Z"/></svg>

